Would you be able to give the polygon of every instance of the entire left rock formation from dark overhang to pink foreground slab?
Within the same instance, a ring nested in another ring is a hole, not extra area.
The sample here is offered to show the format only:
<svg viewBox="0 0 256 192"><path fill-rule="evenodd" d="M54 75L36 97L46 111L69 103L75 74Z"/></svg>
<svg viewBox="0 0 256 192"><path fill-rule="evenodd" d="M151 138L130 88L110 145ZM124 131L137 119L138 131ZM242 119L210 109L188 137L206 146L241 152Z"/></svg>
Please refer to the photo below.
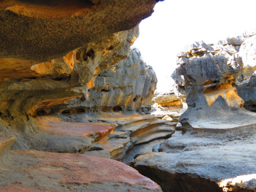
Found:
<svg viewBox="0 0 256 192"><path fill-rule="evenodd" d="M108 158L119 159L134 144L174 133L168 120L118 112L122 107L140 110L154 92L152 68L140 63L140 54L130 46L138 37L137 25L152 14L156 2L0 2L0 191L161 191L120 162L70 154L108 151ZM128 55L132 63L117 64ZM118 76L127 68L134 69L130 78L138 78L128 82L130 90L125 90L124 76ZM106 91L111 85L101 76L115 71L112 90L120 83L125 94L131 93L120 102L115 92ZM99 93L108 93L111 103L98 98L90 103ZM68 116L65 106L78 116ZM102 106L114 112L83 116L87 107L104 113Z"/></svg>

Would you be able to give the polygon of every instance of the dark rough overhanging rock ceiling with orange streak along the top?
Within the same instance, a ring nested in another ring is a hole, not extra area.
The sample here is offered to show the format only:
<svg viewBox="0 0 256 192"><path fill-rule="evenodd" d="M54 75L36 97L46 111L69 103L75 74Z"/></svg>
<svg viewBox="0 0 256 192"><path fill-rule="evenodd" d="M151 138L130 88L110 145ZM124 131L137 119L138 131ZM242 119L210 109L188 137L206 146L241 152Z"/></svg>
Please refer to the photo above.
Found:
<svg viewBox="0 0 256 192"><path fill-rule="evenodd" d="M0 58L47 62L106 35L134 28L156 0L4 0ZM96 3L96 4L94 4ZM98 4L99 3L99 4Z"/></svg>

